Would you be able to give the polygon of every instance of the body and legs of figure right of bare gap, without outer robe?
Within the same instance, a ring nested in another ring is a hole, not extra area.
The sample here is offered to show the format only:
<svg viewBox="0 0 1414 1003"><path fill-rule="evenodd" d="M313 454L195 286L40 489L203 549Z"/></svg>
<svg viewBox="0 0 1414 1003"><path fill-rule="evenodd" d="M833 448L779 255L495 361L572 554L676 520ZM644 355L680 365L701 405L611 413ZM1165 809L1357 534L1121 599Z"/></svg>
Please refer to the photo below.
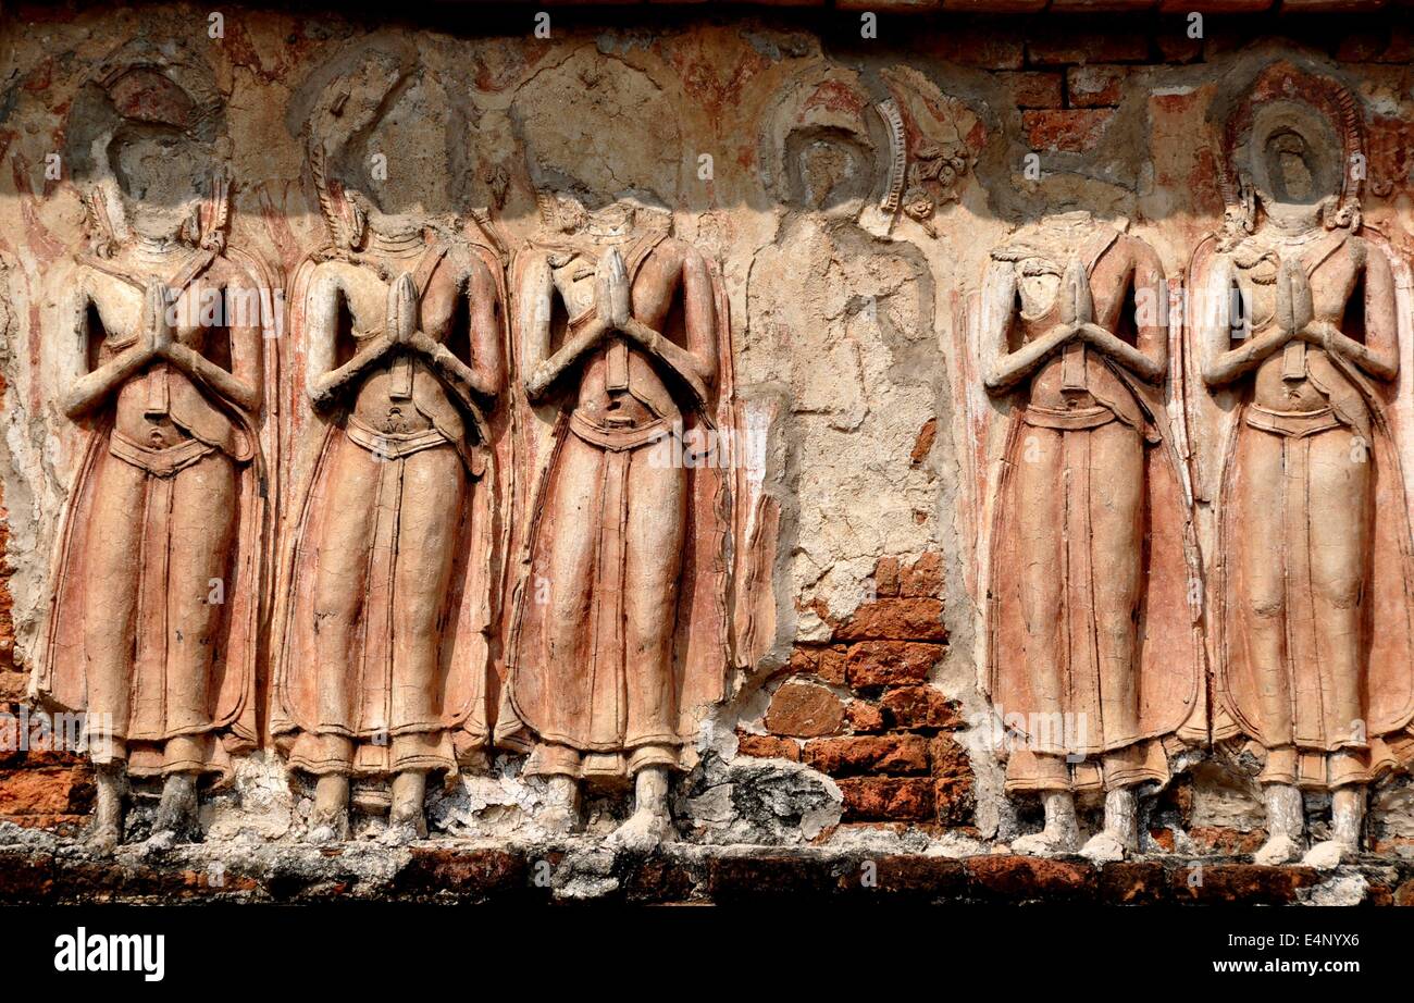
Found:
<svg viewBox="0 0 1414 1003"><path fill-rule="evenodd" d="M1090 246L1094 233L1085 214L1056 218L1041 229L1048 245L1070 253ZM1021 273L1014 279L1021 345L987 379L991 393L1022 382L1028 386L1025 453L1004 501L1015 506L1019 526L1019 596L1003 600L1021 603L1025 649L1007 656L1022 661L1036 702L1019 710L1065 721L1068 731L1075 721L1082 733L1079 741L1032 736L1034 748L1012 754L1008 789L1039 792L1046 819L1042 832L1017 839L1012 849L1076 849L1073 751L1068 750L1083 746L1094 750L1089 755L1097 760L1106 802L1104 829L1082 853L1118 860L1137 847L1134 785L1150 778L1134 763L1145 758L1138 754L1145 740L1140 737L1135 622L1147 446L1145 419L1133 392L1102 358L1150 383L1164 378L1161 325L1140 325L1134 345L1111 332L1131 290L1159 289L1162 272L1147 246L1123 235L1100 250L1089 273L1079 257L1058 274L1048 257L1008 256L1017 257ZM1062 497L1070 501L1055 504Z"/></svg>

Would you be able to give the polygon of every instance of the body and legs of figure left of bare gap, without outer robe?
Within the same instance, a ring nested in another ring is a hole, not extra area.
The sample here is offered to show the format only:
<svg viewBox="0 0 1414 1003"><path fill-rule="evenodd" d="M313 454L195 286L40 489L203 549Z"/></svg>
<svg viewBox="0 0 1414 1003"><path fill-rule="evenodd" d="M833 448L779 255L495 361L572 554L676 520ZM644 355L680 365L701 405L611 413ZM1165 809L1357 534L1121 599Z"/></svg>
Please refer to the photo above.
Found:
<svg viewBox="0 0 1414 1003"><path fill-rule="evenodd" d="M543 317L550 297L559 296L571 318L553 355L547 324L529 334L530 399L570 372L577 381L575 430L567 433L551 472L547 519L554 536L536 552L536 573L551 581L550 610L537 648L520 655L543 673L546 690L564 693L550 702L544 721L530 721L563 740L542 736L527 772L547 777L554 811L546 821L561 830L578 826L581 779L628 774L635 811L612 840L646 847L672 832L667 791L680 744L673 639L686 480L682 470L649 463L650 447L636 439L680 420L669 381L706 399L715 379L714 307L706 265L686 245L660 240L631 280L619 242L611 236L605 243L532 272L520 290L544 303ZM679 297L686 347L659 334ZM597 494L595 485L609 482L622 494ZM587 523L594 519L585 515L588 505L601 514L601 525ZM622 562L595 570L592 552L609 545L622 552ZM607 589L605 573L622 574L622 581Z"/></svg>

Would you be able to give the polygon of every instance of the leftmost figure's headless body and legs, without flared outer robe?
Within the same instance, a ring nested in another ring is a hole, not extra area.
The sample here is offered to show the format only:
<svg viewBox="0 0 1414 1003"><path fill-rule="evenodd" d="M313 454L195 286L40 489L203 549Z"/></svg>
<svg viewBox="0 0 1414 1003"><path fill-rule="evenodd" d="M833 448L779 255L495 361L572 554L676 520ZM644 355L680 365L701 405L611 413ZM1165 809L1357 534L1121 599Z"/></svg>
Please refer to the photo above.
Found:
<svg viewBox="0 0 1414 1003"><path fill-rule="evenodd" d="M126 767L139 746L160 747L165 778L153 840L197 828L197 778L219 740L209 706L223 605L209 601L211 583L229 580L238 477L255 448L230 412L262 405L259 318L205 325L201 297L221 297L232 318L232 304L259 301L256 293L228 259L140 235L82 272L69 314L74 358L98 364L76 376L65 414L112 410L81 528L86 730L98 768L90 837L100 850L122 837ZM208 358L218 340L229 341L229 369Z"/></svg>

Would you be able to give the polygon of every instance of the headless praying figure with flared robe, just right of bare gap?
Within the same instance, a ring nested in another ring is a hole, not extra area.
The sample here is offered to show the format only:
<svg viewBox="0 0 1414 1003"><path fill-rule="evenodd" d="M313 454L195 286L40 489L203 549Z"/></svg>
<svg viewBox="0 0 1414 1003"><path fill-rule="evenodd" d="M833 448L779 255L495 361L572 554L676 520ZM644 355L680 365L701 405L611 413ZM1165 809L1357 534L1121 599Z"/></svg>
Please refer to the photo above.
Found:
<svg viewBox="0 0 1414 1003"><path fill-rule="evenodd" d="M1103 791L1104 828L1082 853L1114 860L1137 847L1137 788L1169 778L1179 738L1205 737L1164 272L1086 211L1022 226L991 259L986 386L1017 399L993 501L987 679L1010 731L1005 789L1045 808L1012 849L1076 849L1075 796Z"/></svg>

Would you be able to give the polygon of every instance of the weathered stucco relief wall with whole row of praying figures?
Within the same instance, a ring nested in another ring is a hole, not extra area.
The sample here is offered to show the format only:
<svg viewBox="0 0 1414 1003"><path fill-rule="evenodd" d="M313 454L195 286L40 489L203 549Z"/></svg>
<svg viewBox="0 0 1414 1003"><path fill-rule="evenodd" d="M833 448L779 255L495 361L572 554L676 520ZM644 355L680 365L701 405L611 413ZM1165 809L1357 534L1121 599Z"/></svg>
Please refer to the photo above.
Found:
<svg viewBox="0 0 1414 1003"><path fill-rule="evenodd" d="M110 714L98 846L1414 840L1393 76L1137 66L1036 180L1014 71L284 27L55 28L0 129L16 662Z"/></svg>

